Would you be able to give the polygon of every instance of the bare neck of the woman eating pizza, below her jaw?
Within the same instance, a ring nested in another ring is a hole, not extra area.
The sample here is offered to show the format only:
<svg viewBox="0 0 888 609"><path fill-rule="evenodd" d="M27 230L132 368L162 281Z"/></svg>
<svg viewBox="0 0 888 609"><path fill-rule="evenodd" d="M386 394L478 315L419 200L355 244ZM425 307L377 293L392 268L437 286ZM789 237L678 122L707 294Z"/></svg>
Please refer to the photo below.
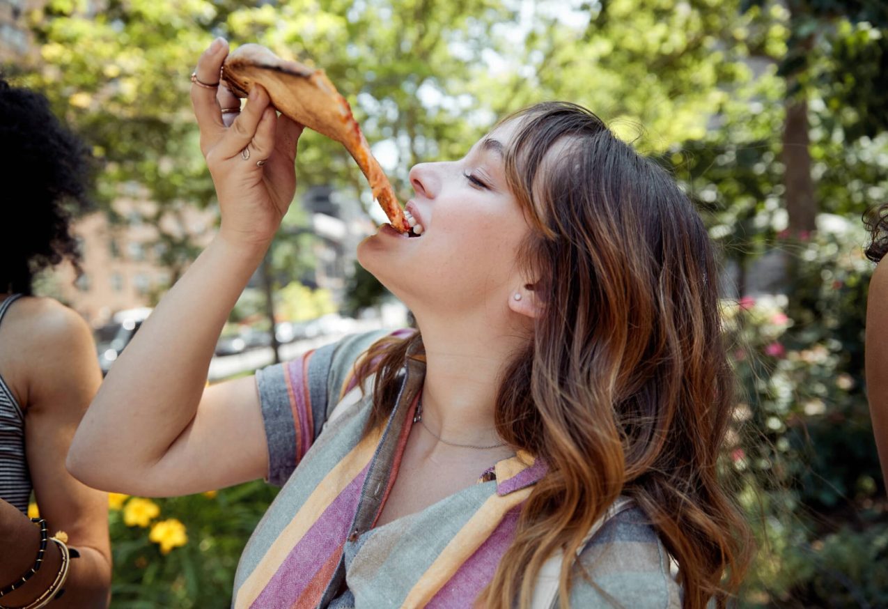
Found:
<svg viewBox="0 0 888 609"><path fill-rule="evenodd" d="M490 318L439 321L416 317L425 348L423 421L460 445L496 445L496 394L511 358L527 344L527 329L496 326Z"/></svg>

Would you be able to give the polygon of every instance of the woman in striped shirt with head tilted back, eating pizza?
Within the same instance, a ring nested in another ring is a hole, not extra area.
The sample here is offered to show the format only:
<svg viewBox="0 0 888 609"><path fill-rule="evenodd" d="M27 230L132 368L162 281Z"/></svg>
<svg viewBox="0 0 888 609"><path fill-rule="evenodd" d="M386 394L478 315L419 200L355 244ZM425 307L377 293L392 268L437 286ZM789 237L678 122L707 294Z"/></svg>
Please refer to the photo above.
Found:
<svg viewBox="0 0 888 609"><path fill-rule="evenodd" d="M358 247L418 330L205 388L302 131L258 85L240 111L227 52L192 86L218 235L115 362L75 476L147 496L281 485L235 607L725 605L752 551L718 477L733 378L713 248L675 180L584 108L527 108L413 167L410 230Z"/></svg>

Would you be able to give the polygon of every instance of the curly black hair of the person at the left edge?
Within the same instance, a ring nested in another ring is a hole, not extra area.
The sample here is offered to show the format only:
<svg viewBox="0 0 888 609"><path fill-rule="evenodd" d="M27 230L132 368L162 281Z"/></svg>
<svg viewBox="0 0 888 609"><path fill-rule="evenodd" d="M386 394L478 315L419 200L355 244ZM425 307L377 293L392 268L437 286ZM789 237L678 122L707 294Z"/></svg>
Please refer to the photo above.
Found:
<svg viewBox="0 0 888 609"><path fill-rule="evenodd" d="M0 292L31 293L37 272L70 260L73 214L91 207L91 153L49 100L0 76Z"/></svg>

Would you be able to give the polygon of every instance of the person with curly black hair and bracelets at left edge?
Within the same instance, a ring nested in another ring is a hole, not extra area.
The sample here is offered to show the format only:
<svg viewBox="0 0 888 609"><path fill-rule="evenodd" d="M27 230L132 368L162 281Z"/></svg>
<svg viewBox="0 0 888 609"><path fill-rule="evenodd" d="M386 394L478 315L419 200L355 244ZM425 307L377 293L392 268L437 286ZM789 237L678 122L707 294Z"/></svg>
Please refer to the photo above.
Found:
<svg viewBox="0 0 888 609"><path fill-rule="evenodd" d="M79 268L71 212L88 204L90 154L43 95L2 77L0 141L0 607L105 607L107 494L65 468L99 362L83 317L31 290L44 268Z"/></svg>

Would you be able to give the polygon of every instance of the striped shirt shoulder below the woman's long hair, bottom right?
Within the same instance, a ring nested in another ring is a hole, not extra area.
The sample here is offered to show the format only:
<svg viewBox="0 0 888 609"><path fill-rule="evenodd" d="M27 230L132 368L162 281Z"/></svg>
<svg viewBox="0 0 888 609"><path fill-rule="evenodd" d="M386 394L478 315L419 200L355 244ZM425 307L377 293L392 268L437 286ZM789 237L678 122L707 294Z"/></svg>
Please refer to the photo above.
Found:
<svg viewBox="0 0 888 609"><path fill-rule="evenodd" d="M580 555L580 573L571 589L571 606L671 609L681 606L681 589L671 573L670 556L654 525L638 507L611 518Z"/></svg>

